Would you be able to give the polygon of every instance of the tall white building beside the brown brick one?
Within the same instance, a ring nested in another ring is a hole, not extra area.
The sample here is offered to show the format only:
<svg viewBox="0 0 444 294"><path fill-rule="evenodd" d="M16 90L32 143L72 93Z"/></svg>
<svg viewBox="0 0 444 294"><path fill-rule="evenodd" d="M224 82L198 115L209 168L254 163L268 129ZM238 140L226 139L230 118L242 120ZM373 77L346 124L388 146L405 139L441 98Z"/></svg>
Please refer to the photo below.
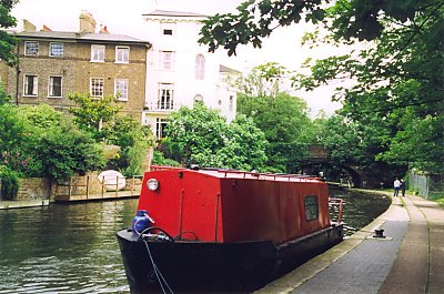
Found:
<svg viewBox="0 0 444 294"><path fill-rule="evenodd" d="M152 42L147 65L147 94L143 124L151 125L158 139L172 111L192 108L202 101L218 109L230 122L236 112L236 92L224 78L235 72L221 64L221 55L209 53L198 43L201 21L206 16L155 10L143 14Z"/></svg>

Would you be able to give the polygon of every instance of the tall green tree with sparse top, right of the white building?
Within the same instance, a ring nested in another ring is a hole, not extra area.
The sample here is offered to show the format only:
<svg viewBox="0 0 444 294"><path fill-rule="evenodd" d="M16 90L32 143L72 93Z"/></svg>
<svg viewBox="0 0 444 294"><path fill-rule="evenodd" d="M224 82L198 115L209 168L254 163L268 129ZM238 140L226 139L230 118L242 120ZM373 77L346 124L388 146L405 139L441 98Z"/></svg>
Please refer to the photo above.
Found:
<svg viewBox="0 0 444 294"><path fill-rule="evenodd" d="M296 172L307 155L309 109L299 98L281 92L287 70L274 62L252 69L233 81L241 93L238 112L251 118L265 134L268 166Z"/></svg>

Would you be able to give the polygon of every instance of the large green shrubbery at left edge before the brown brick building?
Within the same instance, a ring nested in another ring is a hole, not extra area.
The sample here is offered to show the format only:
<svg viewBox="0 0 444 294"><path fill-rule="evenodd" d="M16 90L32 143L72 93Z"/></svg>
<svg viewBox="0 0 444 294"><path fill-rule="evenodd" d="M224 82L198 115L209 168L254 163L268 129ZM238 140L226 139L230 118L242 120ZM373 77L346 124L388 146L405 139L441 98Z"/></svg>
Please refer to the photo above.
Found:
<svg viewBox="0 0 444 294"><path fill-rule="evenodd" d="M63 179L104 163L101 145L44 104L0 105L0 164L20 176Z"/></svg>

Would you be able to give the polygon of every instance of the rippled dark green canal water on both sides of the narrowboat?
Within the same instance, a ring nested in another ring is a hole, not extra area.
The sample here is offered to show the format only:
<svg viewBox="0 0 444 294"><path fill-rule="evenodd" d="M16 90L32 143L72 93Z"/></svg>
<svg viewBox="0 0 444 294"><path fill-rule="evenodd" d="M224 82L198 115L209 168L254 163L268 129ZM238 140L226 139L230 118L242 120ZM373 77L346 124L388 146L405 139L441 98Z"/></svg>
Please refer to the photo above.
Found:
<svg viewBox="0 0 444 294"><path fill-rule="evenodd" d="M344 199L346 234L384 212L382 196L332 190ZM0 210L0 294L129 293L115 231L137 199Z"/></svg>

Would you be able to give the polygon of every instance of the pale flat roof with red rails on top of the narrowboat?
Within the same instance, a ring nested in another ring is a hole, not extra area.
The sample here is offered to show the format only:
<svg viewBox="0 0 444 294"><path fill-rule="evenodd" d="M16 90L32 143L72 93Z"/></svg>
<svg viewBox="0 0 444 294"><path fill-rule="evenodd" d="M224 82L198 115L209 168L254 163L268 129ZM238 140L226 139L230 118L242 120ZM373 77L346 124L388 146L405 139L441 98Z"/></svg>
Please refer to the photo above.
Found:
<svg viewBox="0 0 444 294"><path fill-rule="evenodd" d="M231 169L216 169L216 168L174 168L174 166L151 166L151 171L188 171L208 174L220 179L255 179L278 182L322 182L320 178L312 175L302 174L289 174L289 173L260 173L258 171L239 171Z"/></svg>

